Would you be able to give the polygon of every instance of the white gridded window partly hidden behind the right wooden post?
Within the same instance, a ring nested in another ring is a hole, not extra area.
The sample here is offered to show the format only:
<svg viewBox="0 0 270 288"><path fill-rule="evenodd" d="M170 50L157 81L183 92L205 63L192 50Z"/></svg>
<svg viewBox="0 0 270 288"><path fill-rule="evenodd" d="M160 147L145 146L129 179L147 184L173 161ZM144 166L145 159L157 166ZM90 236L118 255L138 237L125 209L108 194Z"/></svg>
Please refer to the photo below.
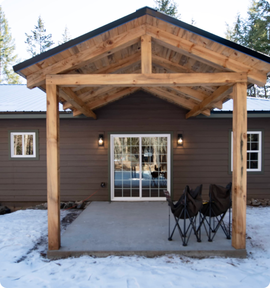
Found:
<svg viewBox="0 0 270 288"><path fill-rule="evenodd" d="M231 171L233 171L233 132ZM248 131L247 171L262 171L262 131Z"/></svg>

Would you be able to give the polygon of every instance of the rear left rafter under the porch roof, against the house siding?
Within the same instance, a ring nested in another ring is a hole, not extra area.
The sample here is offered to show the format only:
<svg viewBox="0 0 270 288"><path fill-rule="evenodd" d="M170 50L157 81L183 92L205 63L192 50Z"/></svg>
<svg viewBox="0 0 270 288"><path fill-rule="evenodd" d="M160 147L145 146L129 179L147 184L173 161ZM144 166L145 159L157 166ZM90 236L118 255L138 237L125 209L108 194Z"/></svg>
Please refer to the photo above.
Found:
<svg viewBox="0 0 270 288"><path fill-rule="evenodd" d="M98 109L139 90L138 87L129 87L129 88L124 88L120 91L117 91L118 89L119 88L112 89L110 93L106 93L103 96L95 97L95 99L92 99L92 101L88 103L87 106L91 110ZM81 114L82 113L78 110L73 111L73 116L78 116Z"/></svg>

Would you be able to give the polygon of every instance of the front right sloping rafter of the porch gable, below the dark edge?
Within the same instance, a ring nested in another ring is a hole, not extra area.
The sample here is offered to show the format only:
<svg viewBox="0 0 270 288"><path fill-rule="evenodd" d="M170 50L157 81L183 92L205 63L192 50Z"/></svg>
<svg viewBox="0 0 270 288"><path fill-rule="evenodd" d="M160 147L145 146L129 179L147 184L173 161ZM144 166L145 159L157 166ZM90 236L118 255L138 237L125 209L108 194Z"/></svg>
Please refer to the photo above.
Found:
<svg viewBox="0 0 270 288"><path fill-rule="evenodd" d="M240 61L234 60L228 56L212 51L204 46L195 44L187 39L173 35L149 24L146 24L146 34L154 38L158 44L173 51L195 58L200 62L216 67L217 69L225 68L227 71L247 72L248 80L251 83L259 86L264 86L266 84L266 73Z"/></svg>

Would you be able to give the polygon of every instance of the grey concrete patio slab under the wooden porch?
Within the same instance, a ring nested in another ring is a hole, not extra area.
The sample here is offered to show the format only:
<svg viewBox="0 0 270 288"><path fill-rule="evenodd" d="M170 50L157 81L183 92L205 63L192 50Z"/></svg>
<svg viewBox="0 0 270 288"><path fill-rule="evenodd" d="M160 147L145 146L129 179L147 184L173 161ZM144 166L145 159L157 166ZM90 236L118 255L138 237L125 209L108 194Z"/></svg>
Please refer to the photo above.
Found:
<svg viewBox="0 0 270 288"><path fill-rule="evenodd" d="M50 259L69 256L141 255L154 257L180 254L196 258L245 258L246 250L236 250L220 229L213 242L202 242L192 233L188 246L182 245L178 231L168 241L167 202L92 202L61 236L60 250L48 251ZM171 217L171 227L174 219Z"/></svg>

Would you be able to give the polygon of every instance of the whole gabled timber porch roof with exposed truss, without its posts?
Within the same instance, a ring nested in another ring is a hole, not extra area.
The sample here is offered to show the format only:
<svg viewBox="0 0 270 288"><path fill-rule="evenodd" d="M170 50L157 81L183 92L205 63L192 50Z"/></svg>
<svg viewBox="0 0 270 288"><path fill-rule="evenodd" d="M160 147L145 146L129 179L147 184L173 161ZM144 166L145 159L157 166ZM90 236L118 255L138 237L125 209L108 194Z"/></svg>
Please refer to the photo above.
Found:
<svg viewBox="0 0 270 288"><path fill-rule="evenodd" d="M73 116L96 119L96 109L142 89L189 118L222 109L235 83L265 85L270 57L144 7L14 70L30 89L57 85Z"/></svg>

